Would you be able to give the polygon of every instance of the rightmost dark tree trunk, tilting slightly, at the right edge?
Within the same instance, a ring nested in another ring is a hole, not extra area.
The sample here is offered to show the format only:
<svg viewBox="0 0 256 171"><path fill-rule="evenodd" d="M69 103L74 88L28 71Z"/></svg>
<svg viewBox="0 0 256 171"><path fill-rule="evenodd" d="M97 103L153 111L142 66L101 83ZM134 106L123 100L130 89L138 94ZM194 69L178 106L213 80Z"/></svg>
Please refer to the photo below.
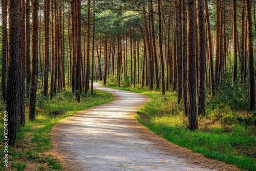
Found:
<svg viewBox="0 0 256 171"><path fill-rule="evenodd" d="M249 68L249 110L255 108L255 83L254 83L254 57L253 57L253 35L252 35L252 19L251 19L251 1L245 0L246 23L247 23L247 54Z"/></svg>

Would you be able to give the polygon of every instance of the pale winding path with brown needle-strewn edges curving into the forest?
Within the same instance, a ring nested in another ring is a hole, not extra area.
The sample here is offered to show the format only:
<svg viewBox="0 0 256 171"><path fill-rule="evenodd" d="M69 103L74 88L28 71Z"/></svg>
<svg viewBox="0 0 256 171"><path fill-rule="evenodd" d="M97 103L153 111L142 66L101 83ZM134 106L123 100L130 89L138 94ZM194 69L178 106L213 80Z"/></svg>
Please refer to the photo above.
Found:
<svg viewBox="0 0 256 171"><path fill-rule="evenodd" d="M115 100L78 112L51 132L54 155L63 170L239 170L207 159L155 135L135 113L150 98L99 86Z"/></svg>

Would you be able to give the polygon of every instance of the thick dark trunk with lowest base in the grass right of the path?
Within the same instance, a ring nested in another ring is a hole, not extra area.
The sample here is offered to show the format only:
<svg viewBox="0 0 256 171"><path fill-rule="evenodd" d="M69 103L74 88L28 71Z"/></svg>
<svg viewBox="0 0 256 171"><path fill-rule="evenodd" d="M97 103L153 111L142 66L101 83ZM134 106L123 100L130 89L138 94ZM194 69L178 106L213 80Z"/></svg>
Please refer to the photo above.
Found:
<svg viewBox="0 0 256 171"><path fill-rule="evenodd" d="M188 0L188 129L198 130L196 102L196 0Z"/></svg>

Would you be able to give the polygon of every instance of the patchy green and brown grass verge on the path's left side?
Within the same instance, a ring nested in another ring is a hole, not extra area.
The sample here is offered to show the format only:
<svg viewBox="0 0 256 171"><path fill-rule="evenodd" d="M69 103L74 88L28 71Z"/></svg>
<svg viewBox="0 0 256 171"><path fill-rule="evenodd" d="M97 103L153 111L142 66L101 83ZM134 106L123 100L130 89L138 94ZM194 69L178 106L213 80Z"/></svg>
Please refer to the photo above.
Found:
<svg viewBox="0 0 256 171"><path fill-rule="evenodd" d="M26 126L21 127L17 133L15 146L8 150L8 167L4 167L3 158L0 159L0 170L24 170L26 167L34 170L60 170L61 165L47 151L52 148L50 132L54 124L61 119L72 116L78 111L90 108L114 100L110 93L95 90L94 95L90 93L81 95L81 102L76 102L76 97L65 90L55 94L50 99L37 94L36 119L28 119L28 101L26 101ZM3 102L0 101L1 104ZM5 104L3 104L5 105ZM1 108L0 116L3 118L5 108ZM3 132L4 123L0 122L0 132ZM0 134L0 139L4 139ZM0 144L0 156L4 156L3 144Z"/></svg>

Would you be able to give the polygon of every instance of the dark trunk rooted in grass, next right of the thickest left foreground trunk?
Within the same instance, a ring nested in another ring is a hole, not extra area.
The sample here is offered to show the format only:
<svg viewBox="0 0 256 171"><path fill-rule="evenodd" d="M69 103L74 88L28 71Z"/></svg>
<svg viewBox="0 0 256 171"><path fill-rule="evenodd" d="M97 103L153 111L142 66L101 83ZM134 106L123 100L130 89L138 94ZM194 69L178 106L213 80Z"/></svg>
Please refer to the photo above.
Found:
<svg viewBox="0 0 256 171"><path fill-rule="evenodd" d="M29 91L29 120L35 120L35 104L38 76L38 9L39 1L33 0L32 3L32 75Z"/></svg>

